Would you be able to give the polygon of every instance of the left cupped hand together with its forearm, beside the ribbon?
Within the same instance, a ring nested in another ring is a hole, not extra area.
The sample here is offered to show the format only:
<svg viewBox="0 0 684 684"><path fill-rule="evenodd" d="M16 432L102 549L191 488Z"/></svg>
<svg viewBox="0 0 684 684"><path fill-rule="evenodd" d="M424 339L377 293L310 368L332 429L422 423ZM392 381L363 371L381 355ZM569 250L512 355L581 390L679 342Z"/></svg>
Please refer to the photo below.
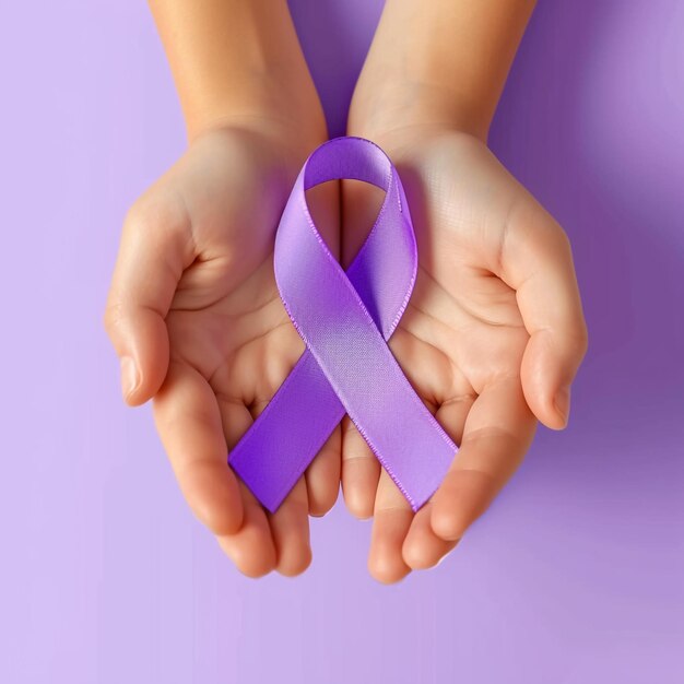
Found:
<svg viewBox="0 0 684 684"><path fill-rule="evenodd" d="M284 2L152 8L190 145L125 222L105 314L123 397L154 399L180 488L238 569L297 575L311 559L309 512L337 499L340 431L274 515L226 456L304 349L275 286L273 238L302 164L327 139L322 110ZM337 188L309 202L334 249Z"/></svg>

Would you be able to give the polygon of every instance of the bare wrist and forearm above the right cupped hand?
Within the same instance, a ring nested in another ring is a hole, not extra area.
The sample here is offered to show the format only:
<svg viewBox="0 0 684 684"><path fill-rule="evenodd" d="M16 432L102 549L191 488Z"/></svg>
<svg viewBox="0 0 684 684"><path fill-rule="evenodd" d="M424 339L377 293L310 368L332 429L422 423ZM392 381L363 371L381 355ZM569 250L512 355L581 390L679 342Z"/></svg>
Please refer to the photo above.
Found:
<svg viewBox="0 0 684 684"><path fill-rule="evenodd" d="M441 126L486 141L534 0L388 0L349 129Z"/></svg>

